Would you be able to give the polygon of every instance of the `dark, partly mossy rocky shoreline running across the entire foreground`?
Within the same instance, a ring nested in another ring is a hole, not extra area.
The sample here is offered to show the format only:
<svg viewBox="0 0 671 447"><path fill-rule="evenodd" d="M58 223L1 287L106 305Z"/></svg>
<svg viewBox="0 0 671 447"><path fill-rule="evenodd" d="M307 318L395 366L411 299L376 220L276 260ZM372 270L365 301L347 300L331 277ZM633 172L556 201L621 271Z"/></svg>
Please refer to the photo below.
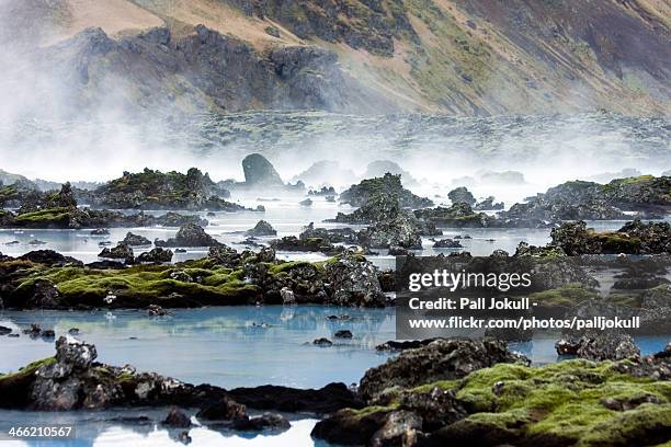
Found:
<svg viewBox="0 0 671 447"><path fill-rule="evenodd" d="M599 342L601 343L601 342ZM276 413L315 414L311 436L339 445L651 446L671 433L671 346L619 359L607 345L599 362L530 367L505 344L434 340L371 368L353 390L262 386L225 390L95 362L93 345L72 336L56 355L0 375L0 408L37 411L173 405L164 426L202 424L235 431L283 431ZM610 353L610 354L609 354ZM185 434L187 437L187 433Z"/></svg>

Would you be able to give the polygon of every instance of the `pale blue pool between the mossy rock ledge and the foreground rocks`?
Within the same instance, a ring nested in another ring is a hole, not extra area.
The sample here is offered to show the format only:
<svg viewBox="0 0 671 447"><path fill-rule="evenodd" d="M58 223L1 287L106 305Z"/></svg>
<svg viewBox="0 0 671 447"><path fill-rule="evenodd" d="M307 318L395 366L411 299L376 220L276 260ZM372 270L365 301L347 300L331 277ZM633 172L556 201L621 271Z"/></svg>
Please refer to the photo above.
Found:
<svg viewBox="0 0 671 447"><path fill-rule="evenodd" d="M350 320L327 319L344 313ZM95 344L100 360L111 365L130 364L138 370L226 388L355 382L367 368L387 358L375 345L395 337L394 309L243 306L181 309L161 318L147 317L143 310L0 313L1 325L25 328L30 323L54 329L56 336L79 328L79 337ZM349 329L354 337L334 340L340 329ZM336 344L311 344L322 336ZM2 337L0 346L0 371L15 370L54 353L53 341L26 335Z"/></svg>

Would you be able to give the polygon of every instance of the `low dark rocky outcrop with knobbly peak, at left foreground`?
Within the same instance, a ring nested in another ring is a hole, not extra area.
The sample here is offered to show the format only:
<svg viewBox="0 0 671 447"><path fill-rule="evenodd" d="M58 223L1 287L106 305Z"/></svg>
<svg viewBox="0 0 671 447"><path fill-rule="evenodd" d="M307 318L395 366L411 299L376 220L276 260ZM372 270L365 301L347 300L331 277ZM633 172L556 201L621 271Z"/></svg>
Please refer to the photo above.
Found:
<svg viewBox="0 0 671 447"><path fill-rule="evenodd" d="M59 337L54 357L34 362L18 373L0 375L0 408L68 411L175 405L163 421L166 425L190 426L191 417L180 408L196 408L198 419L230 421L237 429L260 431L286 428L287 422L274 414L250 417L246 406L323 414L362 405L342 383L319 390L266 386L227 391L209 385L183 383L153 373L137 373L129 365L102 364L96 357L95 346L70 335Z"/></svg>

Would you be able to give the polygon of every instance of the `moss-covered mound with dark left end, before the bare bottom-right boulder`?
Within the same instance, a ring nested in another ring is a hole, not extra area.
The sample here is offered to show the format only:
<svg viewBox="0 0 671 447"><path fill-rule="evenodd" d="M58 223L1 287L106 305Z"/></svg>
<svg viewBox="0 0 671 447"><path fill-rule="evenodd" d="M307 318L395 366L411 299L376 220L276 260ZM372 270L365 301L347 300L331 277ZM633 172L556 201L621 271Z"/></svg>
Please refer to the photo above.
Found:
<svg viewBox="0 0 671 447"><path fill-rule="evenodd" d="M389 415L410 412L421 427L402 444L409 446L662 445L671 440L671 382L634 371L669 368L669 362L499 363L460 379L398 390L384 406L341 410L319 422L312 436L371 445ZM442 411L443 421L436 417ZM353 433L361 435L353 439Z"/></svg>

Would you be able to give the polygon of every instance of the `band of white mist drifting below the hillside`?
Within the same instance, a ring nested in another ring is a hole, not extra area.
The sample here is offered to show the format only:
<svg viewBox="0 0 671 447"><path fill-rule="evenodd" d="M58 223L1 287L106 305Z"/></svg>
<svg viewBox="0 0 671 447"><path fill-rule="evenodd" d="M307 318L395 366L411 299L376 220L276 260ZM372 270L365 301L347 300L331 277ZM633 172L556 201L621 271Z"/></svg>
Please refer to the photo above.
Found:
<svg viewBox="0 0 671 447"><path fill-rule="evenodd" d="M209 172L215 181L242 180L242 158L261 152L289 181L321 160L337 161L359 177L369 162L393 160L411 175L407 186L424 194L467 185L476 195L519 198L567 180L626 176L619 174L624 169L658 175L671 167L670 141L666 118L601 113L478 118L250 112L109 122L12 119L0 126L0 168L58 182L100 182L144 168L185 172L190 167ZM518 171L524 181L498 181L487 175L490 171ZM314 179L306 183L320 186ZM331 175L319 183L343 188L352 179Z"/></svg>

